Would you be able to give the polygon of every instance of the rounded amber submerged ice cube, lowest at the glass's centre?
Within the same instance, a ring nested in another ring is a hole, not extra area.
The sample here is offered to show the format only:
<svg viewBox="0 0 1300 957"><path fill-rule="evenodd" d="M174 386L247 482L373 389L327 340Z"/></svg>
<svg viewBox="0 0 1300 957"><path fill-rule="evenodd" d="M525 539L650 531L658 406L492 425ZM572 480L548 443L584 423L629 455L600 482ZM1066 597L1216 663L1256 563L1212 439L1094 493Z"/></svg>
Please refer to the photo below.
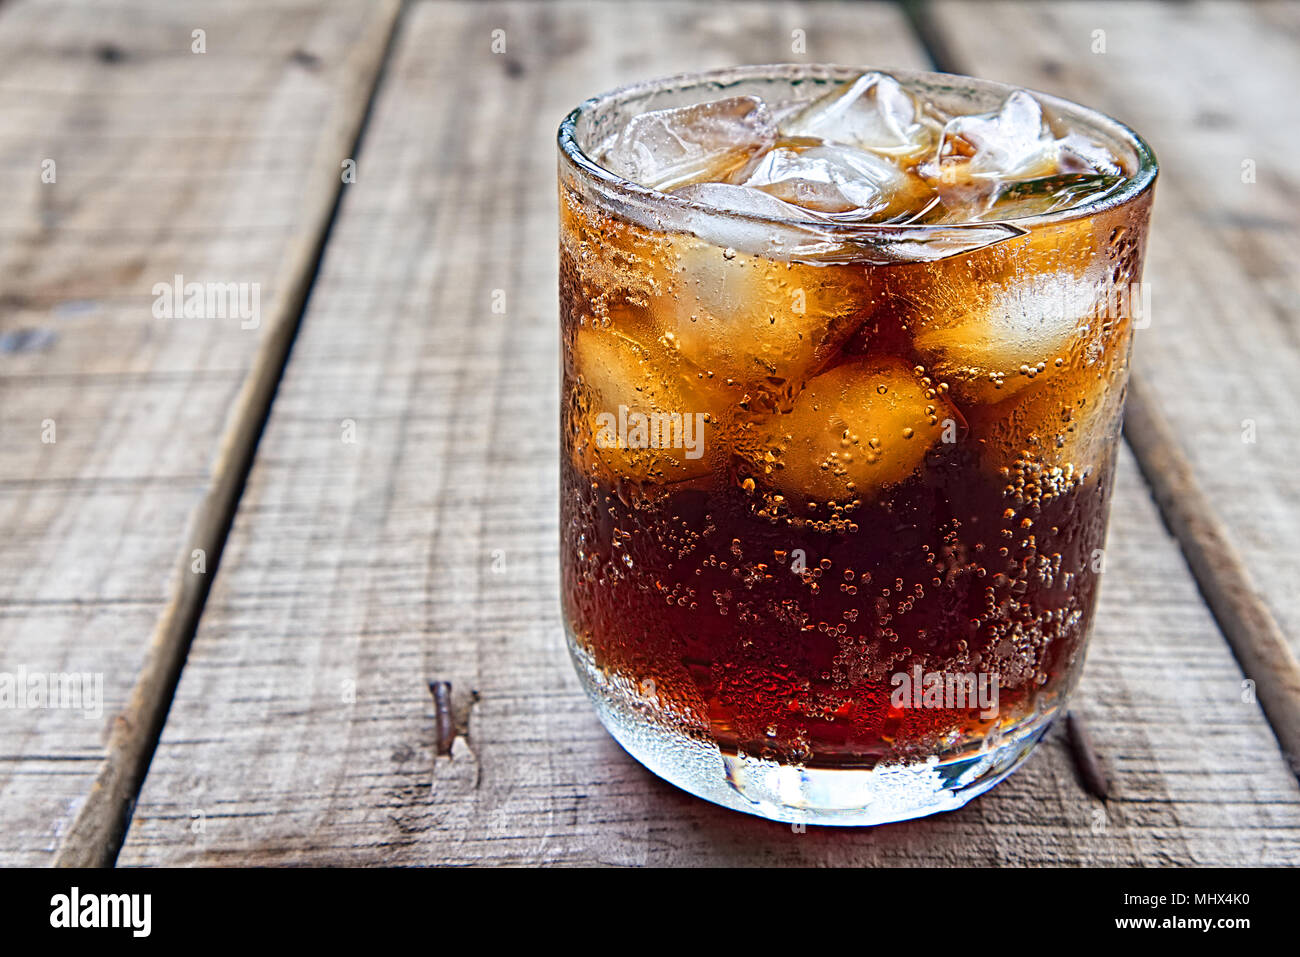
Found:
<svg viewBox="0 0 1300 957"><path fill-rule="evenodd" d="M952 420L904 360L863 356L816 376L789 413L762 423L750 469L798 511L867 501L913 475Z"/></svg>

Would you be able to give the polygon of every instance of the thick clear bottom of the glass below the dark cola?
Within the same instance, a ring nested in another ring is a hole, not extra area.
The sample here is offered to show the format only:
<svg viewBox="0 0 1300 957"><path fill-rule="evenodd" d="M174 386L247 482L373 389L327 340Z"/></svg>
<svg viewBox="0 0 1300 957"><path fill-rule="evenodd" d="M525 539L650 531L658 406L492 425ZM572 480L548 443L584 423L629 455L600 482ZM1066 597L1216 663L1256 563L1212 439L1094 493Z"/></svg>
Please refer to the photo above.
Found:
<svg viewBox="0 0 1300 957"><path fill-rule="evenodd" d="M628 754L696 797L788 823L861 827L956 810L1019 767L1057 710L1034 714L966 752L922 763L801 767L723 752L672 722L627 683L611 680L572 636L568 645L597 715Z"/></svg>

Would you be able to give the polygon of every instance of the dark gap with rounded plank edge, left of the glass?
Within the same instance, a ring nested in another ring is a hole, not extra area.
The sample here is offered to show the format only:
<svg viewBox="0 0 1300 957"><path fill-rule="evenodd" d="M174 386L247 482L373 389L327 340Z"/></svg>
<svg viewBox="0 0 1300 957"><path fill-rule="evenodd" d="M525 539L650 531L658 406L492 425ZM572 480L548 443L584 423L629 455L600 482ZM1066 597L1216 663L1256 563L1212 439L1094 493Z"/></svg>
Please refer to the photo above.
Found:
<svg viewBox="0 0 1300 957"><path fill-rule="evenodd" d="M403 12L400 0L376 4L367 33L358 39L341 70L342 88L337 94L337 105L321 133L316 161L307 177L307 211L303 217L307 226L294 239L276 278L274 287L285 293L268 319L266 337L254 356L221 436L212 482L182 541L176 584L150 638L144 664L126 706L113 722L104 761L86 802L60 844L56 867L109 867L126 836L135 797L166 720L212 579L221 563L221 550L252 467L257 441L334 225L343 195L339 157L358 153ZM208 570L203 575L190 573L194 549L203 549L208 555Z"/></svg>

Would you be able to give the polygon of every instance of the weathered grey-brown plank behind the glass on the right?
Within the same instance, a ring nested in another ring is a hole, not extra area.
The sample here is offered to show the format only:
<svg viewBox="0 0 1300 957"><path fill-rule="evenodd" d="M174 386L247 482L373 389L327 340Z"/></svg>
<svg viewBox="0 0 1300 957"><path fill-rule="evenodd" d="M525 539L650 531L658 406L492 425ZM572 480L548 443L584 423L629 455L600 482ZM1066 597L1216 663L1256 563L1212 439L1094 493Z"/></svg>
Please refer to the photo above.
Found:
<svg viewBox="0 0 1300 957"><path fill-rule="evenodd" d="M1114 113L1161 159L1145 277L1153 315L1136 369L1170 429L1143 416L1148 428L1130 441L1156 485L1182 497L1166 515L1300 770L1300 671L1283 644L1300 649L1300 424L1290 412L1300 9L944 3L933 14L953 66ZM1175 476L1183 455L1192 468Z"/></svg>

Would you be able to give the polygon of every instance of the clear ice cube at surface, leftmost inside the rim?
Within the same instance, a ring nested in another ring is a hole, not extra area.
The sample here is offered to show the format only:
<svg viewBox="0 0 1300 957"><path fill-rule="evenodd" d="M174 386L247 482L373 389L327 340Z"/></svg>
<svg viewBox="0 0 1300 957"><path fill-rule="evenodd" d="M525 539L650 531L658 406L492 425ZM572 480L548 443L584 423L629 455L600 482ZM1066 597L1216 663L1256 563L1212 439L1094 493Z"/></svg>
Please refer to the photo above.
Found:
<svg viewBox="0 0 1300 957"><path fill-rule="evenodd" d="M612 173L671 190L728 179L776 142L776 124L757 96L732 96L634 117L604 152Z"/></svg>

